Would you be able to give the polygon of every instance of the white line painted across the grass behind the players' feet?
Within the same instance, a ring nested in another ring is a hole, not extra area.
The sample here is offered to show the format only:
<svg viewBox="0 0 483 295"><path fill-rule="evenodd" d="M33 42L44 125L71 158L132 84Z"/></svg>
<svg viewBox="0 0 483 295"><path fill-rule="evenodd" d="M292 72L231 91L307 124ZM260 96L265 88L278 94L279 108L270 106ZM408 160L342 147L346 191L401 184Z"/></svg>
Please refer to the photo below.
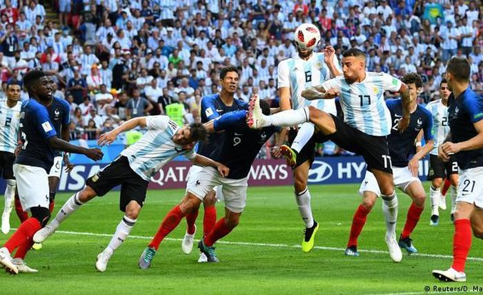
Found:
<svg viewBox="0 0 483 295"><path fill-rule="evenodd" d="M81 231L55 231L57 234L70 234L70 235L78 235L78 236L103 236L103 237L112 237L112 234L95 234L95 233L88 233L88 232L81 232ZM128 236L128 238L138 238L141 240L151 240L152 237L150 236ZM171 240L171 241L178 241L180 242L181 238L164 238L164 240ZM239 245L239 246L257 246L257 247L275 247L275 248L300 248L300 245L287 245L287 244L273 244L273 243L265 243L265 242L228 242L225 240L220 240L217 243L219 244L226 244L226 245ZM345 251L344 248L337 248L337 247L323 247L323 246L314 246L314 249L318 250L327 250L327 251ZM364 253L374 253L374 254L389 254L388 251L381 251L381 250L358 250L359 252ZM420 257L431 257L431 258L444 258L444 259L453 259L451 255L439 255L439 254L411 254L411 256L420 256ZM480 257L469 257L468 260L475 260L475 261L483 261L483 258ZM408 293L413 294L413 293ZM414 293L418 294L418 293Z"/></svg>

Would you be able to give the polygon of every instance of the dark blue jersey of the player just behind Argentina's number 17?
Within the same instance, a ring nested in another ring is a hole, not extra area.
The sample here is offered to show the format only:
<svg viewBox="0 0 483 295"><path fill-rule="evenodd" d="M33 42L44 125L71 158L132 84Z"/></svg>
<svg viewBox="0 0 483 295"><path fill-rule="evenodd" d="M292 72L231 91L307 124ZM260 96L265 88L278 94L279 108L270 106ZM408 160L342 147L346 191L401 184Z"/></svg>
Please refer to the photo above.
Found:
<svg viewBox="0 0 483 295"><path fill-rule="evenodd" d="M416 111L411 113L408 128L400 133L397 130L397 123L402 118L402 100L389 99L386 106L391 112L393 126L391 134L388 135L389 154L395 167L408 166L409 155L413 149L414 141L421 129L424 132L424 140L433 140L431 129L433 128L433 115L423 106L418 105Z"/></svg>

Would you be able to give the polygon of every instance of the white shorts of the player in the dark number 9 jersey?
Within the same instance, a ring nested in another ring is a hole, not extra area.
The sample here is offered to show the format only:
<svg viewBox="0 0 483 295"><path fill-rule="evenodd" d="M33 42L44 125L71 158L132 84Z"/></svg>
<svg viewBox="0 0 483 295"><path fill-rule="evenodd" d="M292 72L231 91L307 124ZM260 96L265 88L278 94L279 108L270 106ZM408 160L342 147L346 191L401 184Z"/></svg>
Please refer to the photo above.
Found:
<svg viewBox="0 0 483 295"><path fill-rule="evenodd" d="M225 207L232 212L241 213L246 205L248 176L242 179L223 178L217 169L202 167L198 173L190 175L186 191L203 200L206 194L217 185L223 186L221 191L223 191Z"/></svg>

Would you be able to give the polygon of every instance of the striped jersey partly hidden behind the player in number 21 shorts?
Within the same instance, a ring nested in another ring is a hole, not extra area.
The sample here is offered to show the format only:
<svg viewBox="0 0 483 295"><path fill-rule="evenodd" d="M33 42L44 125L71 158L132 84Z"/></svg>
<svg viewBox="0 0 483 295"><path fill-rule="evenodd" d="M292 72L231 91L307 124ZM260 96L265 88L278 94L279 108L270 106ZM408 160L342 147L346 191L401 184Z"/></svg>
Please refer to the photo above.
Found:
<svg viewBox="0 0 483 295"><path fill-rule="evenodd" d="M437 155L437 147L444 142L449 133L448 106L445 106L441 99L437 99L427 104L426 108L433 115L431 135L433 135L434 148L431 155Z"/></svg>

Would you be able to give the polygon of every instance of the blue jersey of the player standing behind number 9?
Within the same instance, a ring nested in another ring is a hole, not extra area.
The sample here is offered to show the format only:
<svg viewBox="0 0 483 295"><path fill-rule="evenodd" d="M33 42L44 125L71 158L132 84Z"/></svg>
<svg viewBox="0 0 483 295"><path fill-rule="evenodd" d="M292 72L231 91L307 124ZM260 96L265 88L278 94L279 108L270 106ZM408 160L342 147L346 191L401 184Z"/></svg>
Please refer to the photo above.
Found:
<svg viewBox="0 0 483 295"><path fill-rule="evenodd" d="M214 120L224 113L243 109L248 109L248 104L242 100L234 99L231 106L226 106L219 98L219 94L206 95L201 99L201 123ZM224 133L211 133L208 142L199 143L197 153L216 160L224 140Z"/></svg>

